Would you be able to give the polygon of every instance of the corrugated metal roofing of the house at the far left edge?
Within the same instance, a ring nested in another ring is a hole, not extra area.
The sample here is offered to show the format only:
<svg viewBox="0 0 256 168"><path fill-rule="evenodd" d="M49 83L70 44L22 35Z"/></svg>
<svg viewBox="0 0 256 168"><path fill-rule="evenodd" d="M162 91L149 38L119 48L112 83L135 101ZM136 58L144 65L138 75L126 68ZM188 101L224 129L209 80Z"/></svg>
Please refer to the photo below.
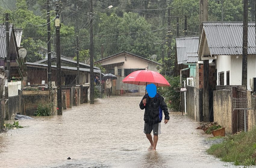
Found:
<svg viewBox="0 0 256 168"><path fill-rule="evenodd" d="M9 24L9 39L11 38L11 34L13 33L13 24ZM17 46L20 46L22 29L14 29L14 34L17 42ZM6 32L5 32L5 24L0 24L0 58L6 57Z"/></svg>

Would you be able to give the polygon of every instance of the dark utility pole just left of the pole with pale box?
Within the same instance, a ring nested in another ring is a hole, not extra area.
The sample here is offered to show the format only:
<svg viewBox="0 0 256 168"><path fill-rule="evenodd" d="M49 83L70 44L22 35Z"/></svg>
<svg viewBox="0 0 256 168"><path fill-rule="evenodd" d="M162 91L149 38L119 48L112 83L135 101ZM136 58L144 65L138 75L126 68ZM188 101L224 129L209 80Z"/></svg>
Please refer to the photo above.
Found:
<svg viewBox="0 0 256 168"><path fill-rule="evenodd" d="M47 0L47 52L48 52L48 88L52 88L52 61L51 61L51 24L50 24L50 5Z"/></svg>

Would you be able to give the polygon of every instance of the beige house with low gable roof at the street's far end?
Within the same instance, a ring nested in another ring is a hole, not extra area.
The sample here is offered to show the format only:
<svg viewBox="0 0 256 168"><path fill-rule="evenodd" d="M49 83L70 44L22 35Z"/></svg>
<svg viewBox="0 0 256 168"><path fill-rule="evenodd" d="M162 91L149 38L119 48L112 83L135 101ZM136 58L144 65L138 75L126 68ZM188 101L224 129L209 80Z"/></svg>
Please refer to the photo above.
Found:
<svg viewBox="0 0 256 168"><path fill-rule="evenodd" d="M158 72L160 63L147 58L123 51L109 57L95 61L95 64L101 63L106 69L106 73L112 73L118 76L127 76L136 70L153 70Z"/></svg>

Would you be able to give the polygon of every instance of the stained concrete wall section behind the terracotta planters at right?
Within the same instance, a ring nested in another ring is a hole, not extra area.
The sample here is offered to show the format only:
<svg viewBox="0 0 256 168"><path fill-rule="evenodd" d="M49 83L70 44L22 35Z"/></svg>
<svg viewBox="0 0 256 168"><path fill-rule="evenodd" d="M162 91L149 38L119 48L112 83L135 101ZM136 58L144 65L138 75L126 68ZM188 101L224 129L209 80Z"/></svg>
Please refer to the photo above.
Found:
<svg viewBox="0 0 256 168"><path fill-rule="evenodd" d="M231 90L213 91L214 122L225 127L227 134L232 134L232 98Z"/></svg>

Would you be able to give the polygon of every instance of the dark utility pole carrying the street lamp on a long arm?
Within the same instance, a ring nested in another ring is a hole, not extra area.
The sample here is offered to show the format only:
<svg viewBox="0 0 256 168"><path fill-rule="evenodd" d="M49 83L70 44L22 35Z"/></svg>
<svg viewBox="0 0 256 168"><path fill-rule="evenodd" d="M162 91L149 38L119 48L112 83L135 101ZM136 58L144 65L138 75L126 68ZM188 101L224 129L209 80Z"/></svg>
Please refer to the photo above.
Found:
<svg viewBox="0 0 256 168"><path fill-rule="evenodd" d="M90 0L90 104L94 104L94 73L93 73L93 33L92 33L92 0Z"/></svg>

